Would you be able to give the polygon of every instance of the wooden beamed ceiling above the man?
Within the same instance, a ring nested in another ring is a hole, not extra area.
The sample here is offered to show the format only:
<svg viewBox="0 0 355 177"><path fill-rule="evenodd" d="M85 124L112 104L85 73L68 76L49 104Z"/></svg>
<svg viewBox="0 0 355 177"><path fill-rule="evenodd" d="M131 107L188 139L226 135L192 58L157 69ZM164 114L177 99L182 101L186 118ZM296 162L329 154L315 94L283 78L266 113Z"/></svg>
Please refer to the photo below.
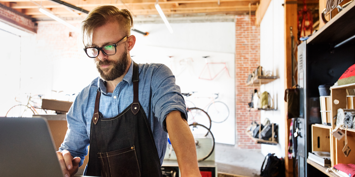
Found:
<svg viewBox="0 0 355 177"><path fill-rule="evenodd" d="M155 9L156 0L0 0L0 3L31 17L33 21L52 20L39 11L39 6L51 10L65 20L81 21L86 17L87 11L100 5L114 5L119 9L128 9L135 18L139 19L138 21L160 18ZM67 8L63 3L81 11ZM159 0L165 16L169 20L175 18L177 21L179 18L187 17L199 19L208 17L215 21L224 21L226 17L247 15L249 10L255 14L258 4L259 0ZM314 9L317 5L318 0L307 0L307 7ZM299 9L303 7L302 0L298 0L298 6Z"/></svg>

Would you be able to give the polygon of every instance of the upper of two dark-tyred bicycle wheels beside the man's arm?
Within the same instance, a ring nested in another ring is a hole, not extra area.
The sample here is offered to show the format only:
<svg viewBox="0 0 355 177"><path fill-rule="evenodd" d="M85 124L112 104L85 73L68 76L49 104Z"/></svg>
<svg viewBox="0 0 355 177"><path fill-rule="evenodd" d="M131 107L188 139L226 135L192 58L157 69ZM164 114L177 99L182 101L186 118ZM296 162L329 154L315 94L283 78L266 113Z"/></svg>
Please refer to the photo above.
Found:
<svg viewBox="0 0 355 177"><path fill-rule="evenodd" d="M206 126L208 129L211 128L211 119L208 114L200 108L189 108L187 109L187 123L199 123Z"/></svg>

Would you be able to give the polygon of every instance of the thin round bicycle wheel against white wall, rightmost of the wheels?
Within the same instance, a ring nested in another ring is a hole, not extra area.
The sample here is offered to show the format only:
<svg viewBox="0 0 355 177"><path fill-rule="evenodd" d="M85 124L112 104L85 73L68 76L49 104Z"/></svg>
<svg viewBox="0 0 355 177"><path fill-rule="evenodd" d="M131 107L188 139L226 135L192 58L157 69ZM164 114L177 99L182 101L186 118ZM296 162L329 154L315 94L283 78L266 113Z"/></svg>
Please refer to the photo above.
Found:
<svg viewBox="0 0 355 177"><path fill-rule="evenodd" d="M208 106L207 113L212 122L221 123L227 120L229 109L225 103L217 101Z"/></svg>

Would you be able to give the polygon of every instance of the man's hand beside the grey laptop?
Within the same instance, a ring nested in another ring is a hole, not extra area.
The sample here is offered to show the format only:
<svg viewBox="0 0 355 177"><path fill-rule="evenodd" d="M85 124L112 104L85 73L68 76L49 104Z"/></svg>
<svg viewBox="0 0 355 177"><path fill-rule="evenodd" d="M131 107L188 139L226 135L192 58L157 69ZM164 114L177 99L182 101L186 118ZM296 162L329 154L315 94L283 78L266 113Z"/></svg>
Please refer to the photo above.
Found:
<svg viewBox="0 0 355 177"><path fill-rule="evenodd" d="M60 167L65 177L69 177L78 172L80 157L75 157L70 154L69 151L63 150L57 152Z"/></svg>

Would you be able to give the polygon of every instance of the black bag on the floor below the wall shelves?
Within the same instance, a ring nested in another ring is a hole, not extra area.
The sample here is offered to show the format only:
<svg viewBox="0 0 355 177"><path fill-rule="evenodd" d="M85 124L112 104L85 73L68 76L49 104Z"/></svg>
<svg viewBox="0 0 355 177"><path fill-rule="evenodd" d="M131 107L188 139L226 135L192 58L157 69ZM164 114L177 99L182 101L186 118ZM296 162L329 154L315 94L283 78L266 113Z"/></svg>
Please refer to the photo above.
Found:
<svg viewBox="0 0 355 177"><path fill-rule="evenodd" d="M266 165L264 163L267 159ZM268 154L260 169L260 176L264 177L285 177L285 162L279 159L274 154Z"/></svg>

